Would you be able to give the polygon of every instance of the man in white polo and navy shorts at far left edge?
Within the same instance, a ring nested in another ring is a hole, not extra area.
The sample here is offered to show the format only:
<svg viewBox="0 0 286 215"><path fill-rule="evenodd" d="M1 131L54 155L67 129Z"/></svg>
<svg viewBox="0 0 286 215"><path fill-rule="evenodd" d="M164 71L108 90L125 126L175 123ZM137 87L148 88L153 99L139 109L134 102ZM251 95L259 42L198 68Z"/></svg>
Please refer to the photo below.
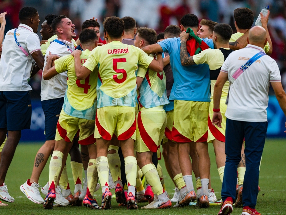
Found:
<svg viewBox="0 0 286 215"><path fill-rule="evenodd" d="M4 183L21 130L30 129L32 105L29 79L43 69L44 57L40 39L36 35L40 23L39 14L33 7L19 12L20 25L6 33L0 61L0 142L8 139L2 151L0 163L0 199L14 202ZM36 67L33 62L36 62Z"/></svg>

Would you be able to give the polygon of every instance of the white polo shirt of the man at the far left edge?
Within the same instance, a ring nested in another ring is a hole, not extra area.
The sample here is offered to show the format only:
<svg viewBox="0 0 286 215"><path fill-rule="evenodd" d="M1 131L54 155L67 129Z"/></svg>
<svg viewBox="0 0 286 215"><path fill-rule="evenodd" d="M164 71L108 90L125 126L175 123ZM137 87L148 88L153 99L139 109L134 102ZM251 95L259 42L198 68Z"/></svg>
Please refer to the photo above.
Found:
<svg viewBox="0 0 286 215"><path fill-rule="evenodd" d="M6 33L0 60L0 91L29 91L29 79L32 72L33 58L31 54L41 51L40 39L28 25L20 24L16 30L16 38L29 58L16 44L14 30Z"/></svg>

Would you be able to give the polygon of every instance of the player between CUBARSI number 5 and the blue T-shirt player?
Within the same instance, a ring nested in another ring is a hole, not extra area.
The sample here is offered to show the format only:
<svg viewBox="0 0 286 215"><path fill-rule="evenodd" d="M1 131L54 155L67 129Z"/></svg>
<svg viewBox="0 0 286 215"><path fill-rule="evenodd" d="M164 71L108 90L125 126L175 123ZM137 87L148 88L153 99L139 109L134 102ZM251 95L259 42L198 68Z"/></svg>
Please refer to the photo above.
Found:
<svg viewBox="0 0 286 215"><path fill-rule="evenodd" d="M150 28L138 28L134 44L138 48L155 44L156 31ZM150 54L152 59L155 58ZM139 67L137 72L137 87L139 90L139 113L136 116L136 142L135 151L138 166L152 187L154 202L142 207L142 209L170 208L172 203L163 190L160 177L155 165L152 163L152 155L156 153L167 123L164 105L169 104L166 90L166 76L164 71L157 73L151 69L145 70Z"/></svg>

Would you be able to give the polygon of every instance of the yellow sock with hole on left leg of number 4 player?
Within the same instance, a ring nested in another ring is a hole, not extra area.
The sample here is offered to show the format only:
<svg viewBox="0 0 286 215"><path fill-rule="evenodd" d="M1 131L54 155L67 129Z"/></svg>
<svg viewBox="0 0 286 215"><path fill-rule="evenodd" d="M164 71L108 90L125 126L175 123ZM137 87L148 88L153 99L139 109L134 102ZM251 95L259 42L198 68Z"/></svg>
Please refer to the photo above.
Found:
<svg viewBox="0 0 286 215"><path fill-rule="evenodd" d="M62 169L62 158L64 154L60 151L54 151L50 162L49 184L52 182L57 186L58 175Z"/></svg>

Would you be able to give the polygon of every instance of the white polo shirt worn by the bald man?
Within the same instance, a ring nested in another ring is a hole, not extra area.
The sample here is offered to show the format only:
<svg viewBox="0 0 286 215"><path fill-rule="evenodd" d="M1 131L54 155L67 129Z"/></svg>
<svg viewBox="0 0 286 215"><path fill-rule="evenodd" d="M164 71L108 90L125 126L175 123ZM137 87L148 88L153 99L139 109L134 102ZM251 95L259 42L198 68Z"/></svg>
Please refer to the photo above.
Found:
<svg viewBox="0 0 286 215"><path fill-rule="evenodd" d="M248 44L232 52L221 67L222 72L232 75L250 58L264 50ZM270 82L281 82L280 71L275 60L264 55L250 65L231 84L225 116L231 120L246 122L267 121L268 90Z"/></svg>

